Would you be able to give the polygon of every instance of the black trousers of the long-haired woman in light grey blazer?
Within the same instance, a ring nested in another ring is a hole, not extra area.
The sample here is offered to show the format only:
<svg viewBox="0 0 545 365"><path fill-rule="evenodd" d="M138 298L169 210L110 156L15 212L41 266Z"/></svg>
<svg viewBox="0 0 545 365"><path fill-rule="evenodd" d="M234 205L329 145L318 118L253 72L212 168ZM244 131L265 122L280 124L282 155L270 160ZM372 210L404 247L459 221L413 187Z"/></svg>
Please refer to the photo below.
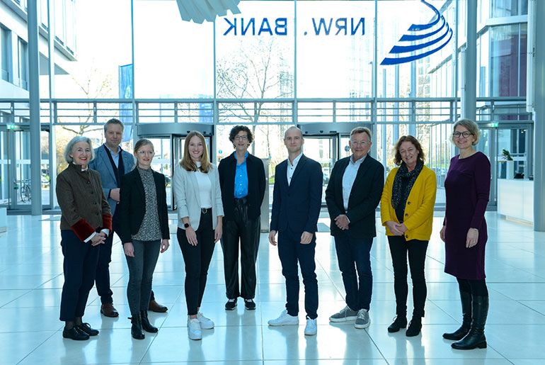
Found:
<svg viewBox="0 0 545 365"><path fill-rule="evenodd" d="M208 266L214 254L214 230L212 229L212 209L201 213L197 234L197 246L190 245L185 230L178 228L178 244L185 262L185 301L188 315L197 315L202 295L205 293Z"/></svg>

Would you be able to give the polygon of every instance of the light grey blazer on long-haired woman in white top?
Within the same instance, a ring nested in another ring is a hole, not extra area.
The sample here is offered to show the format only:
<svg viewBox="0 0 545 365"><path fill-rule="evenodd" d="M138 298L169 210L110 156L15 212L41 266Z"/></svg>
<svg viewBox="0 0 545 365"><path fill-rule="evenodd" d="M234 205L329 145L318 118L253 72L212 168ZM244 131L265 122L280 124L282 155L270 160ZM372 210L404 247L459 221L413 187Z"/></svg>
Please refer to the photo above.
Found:
<svg viewBox="0 0 545 365"><path fill-rule="evenodd" d="M180 164L174 168L174 198L178 209L178 228L185 230L182 218L189 217L189 223L194 230L199 228L200 223L200 193L197 184L196 172L187 171ZM217 227L217 217L224 215L222 203L222 189L219 186L219 174L216 165L208 171L208 177L212 184L212 229Z"/></svg>

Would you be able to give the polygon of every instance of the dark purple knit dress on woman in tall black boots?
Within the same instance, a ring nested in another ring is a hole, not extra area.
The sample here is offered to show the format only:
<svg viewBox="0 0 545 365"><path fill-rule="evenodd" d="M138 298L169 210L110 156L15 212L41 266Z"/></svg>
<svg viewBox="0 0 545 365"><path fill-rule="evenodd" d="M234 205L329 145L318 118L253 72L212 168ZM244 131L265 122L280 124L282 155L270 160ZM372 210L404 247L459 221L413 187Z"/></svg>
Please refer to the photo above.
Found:
<svg viewBox="0 0 545 365"><path fill-rule="evenodd" d="M459 279L485 279L484 250L488 235L484 213L490 196L490 161L481 152L450 160L444 180L447 207L444 272ZM478 229L477 245L466 248L469 228Z"/></svg>

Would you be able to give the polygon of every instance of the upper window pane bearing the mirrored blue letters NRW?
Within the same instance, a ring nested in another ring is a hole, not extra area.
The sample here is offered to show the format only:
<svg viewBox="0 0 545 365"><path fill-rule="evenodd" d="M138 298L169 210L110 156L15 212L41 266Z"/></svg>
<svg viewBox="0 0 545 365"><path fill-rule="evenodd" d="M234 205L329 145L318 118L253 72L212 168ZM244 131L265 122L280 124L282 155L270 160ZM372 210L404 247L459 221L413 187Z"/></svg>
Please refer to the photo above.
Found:
<svg viewBox="0 0 545 365"><path fill-rule="evenodd" d="M297 2L297 96L372 96L373 1Z"/></svg>

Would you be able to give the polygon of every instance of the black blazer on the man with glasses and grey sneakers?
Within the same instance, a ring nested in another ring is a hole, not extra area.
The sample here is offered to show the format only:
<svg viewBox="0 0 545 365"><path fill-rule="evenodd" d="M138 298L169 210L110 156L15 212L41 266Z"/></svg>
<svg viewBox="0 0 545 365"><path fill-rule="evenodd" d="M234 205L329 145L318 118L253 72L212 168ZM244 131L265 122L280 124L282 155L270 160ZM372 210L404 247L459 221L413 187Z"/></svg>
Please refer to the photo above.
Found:
<svg viewBox="0 0 545 365"><path fill-rule="evenodd" d="M357 169L356 179L348 198L348 210L343 202L343 175L350 162L350 157L338 160L331 172L326 188L326 204L331 218L331 235L340 235L343 231L335 225L335 218L346 214L350 224L348 232L355 238L372 238L377 236L374 212L379 206L384 187L384 166L373 157L367 155Z"/></svg>

